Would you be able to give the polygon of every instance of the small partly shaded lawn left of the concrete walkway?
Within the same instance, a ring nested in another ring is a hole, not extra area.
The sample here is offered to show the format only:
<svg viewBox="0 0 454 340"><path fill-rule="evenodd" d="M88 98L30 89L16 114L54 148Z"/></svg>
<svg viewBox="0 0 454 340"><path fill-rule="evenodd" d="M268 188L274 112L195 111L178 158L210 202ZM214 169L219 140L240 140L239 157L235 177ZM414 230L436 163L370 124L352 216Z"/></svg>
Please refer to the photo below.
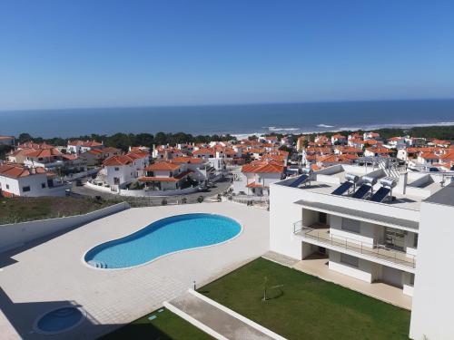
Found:
<svg viewBox="0 0 454 340"><path fill-rule="evenodd" d="M157 316L150 321L149 316ZM199 328L176 316L172 312L163 308L163 312L155 311L147 316L135 320L129 325L104 335L103 340L209 340L210 335L203 333Z"/></svg>

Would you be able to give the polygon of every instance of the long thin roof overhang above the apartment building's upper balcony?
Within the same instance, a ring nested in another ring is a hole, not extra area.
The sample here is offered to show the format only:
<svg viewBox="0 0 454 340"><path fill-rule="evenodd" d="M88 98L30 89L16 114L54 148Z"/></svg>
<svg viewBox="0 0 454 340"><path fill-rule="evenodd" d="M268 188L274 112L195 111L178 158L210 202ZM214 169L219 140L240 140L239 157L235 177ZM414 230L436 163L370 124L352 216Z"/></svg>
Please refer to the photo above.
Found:
<svg viewBox="0 0 454 340"><path fill-rule="evenodd" d="M454 187L453 187L454 188ZM348 209L339 207L333 204L326 204L321 202L312 202L306 199L300 199L294 202L308 209L327 211L333 215L339 215L343 217L353 217L364 221L379 223L389 227L403 227L409 229L418 229L419 223L409 219L398 219L390 216L373 214L370 212L364 212L361 210Z"/></svg>

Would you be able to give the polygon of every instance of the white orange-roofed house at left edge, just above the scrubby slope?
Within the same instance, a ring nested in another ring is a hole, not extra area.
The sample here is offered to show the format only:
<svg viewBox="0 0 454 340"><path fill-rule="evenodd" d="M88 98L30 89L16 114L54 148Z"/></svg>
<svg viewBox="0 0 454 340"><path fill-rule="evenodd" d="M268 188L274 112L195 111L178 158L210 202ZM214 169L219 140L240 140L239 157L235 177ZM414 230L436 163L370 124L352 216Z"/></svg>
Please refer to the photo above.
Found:
<svg viewBox="0 0 454 340"><path fill-rule="evenodd" d="M71 184L61 183L44 168L26 168L18 164L0 165L0 192L5 197L64 196Z"/></svg>

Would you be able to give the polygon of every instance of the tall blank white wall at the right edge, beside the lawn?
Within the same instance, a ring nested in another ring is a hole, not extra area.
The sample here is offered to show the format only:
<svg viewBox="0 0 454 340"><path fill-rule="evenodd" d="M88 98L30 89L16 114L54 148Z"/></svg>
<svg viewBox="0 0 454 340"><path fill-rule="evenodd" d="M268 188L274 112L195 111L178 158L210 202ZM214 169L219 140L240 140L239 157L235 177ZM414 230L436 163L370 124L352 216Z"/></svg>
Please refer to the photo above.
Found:
<svg viewBox="0 0 454 340"><path fill-rule="evenodd" d="M454 339L454 207L421 204L410 337Z"/></svg>

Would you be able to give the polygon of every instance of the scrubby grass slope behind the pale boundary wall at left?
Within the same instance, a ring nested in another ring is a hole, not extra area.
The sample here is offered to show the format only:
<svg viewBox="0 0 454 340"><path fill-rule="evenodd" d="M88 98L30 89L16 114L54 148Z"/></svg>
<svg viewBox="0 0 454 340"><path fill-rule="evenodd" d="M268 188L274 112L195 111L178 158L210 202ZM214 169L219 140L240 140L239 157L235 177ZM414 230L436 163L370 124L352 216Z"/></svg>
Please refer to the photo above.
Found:
<svg viewBox="0 0 454 340"><path fill-rule="evenodd" d="M86 214L114 203L117 202L72 197L0 198L0 225Z"/></svg>

